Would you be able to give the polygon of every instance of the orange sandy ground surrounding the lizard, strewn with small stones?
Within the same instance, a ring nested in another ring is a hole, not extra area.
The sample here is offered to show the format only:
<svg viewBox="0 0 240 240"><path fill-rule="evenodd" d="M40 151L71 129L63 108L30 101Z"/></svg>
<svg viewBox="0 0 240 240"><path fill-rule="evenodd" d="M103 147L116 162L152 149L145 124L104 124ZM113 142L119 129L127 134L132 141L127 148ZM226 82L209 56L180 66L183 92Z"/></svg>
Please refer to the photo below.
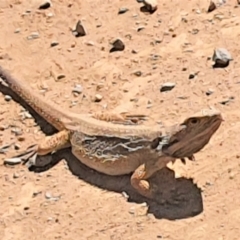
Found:
<svg viewBox="0 0 240 240"><path fill-rule="evenodd" d="M232 0L206 13L208 5L163 0L147 14L127 0L59 0L46 10L38 10L39 1L0 1L1 66L63 108L138 111L168 125L213 106L225 119L196 162L175 163L178 178L171 168L159 172L157 204L136 194L129 176L97 173L70 150L56 153L58 164L41 172L4 166L3 159L53 129L1 85L1 146L14 143L0 155L2 240L239 239L240 8ZM122 7L129 11L118 15ZM71 28L78 20L87 34L76 38ZM110 53L117 38L125 50ZM213 69L219 47L233 61ZM174 89L160 92L165 82Z"/></svg>

